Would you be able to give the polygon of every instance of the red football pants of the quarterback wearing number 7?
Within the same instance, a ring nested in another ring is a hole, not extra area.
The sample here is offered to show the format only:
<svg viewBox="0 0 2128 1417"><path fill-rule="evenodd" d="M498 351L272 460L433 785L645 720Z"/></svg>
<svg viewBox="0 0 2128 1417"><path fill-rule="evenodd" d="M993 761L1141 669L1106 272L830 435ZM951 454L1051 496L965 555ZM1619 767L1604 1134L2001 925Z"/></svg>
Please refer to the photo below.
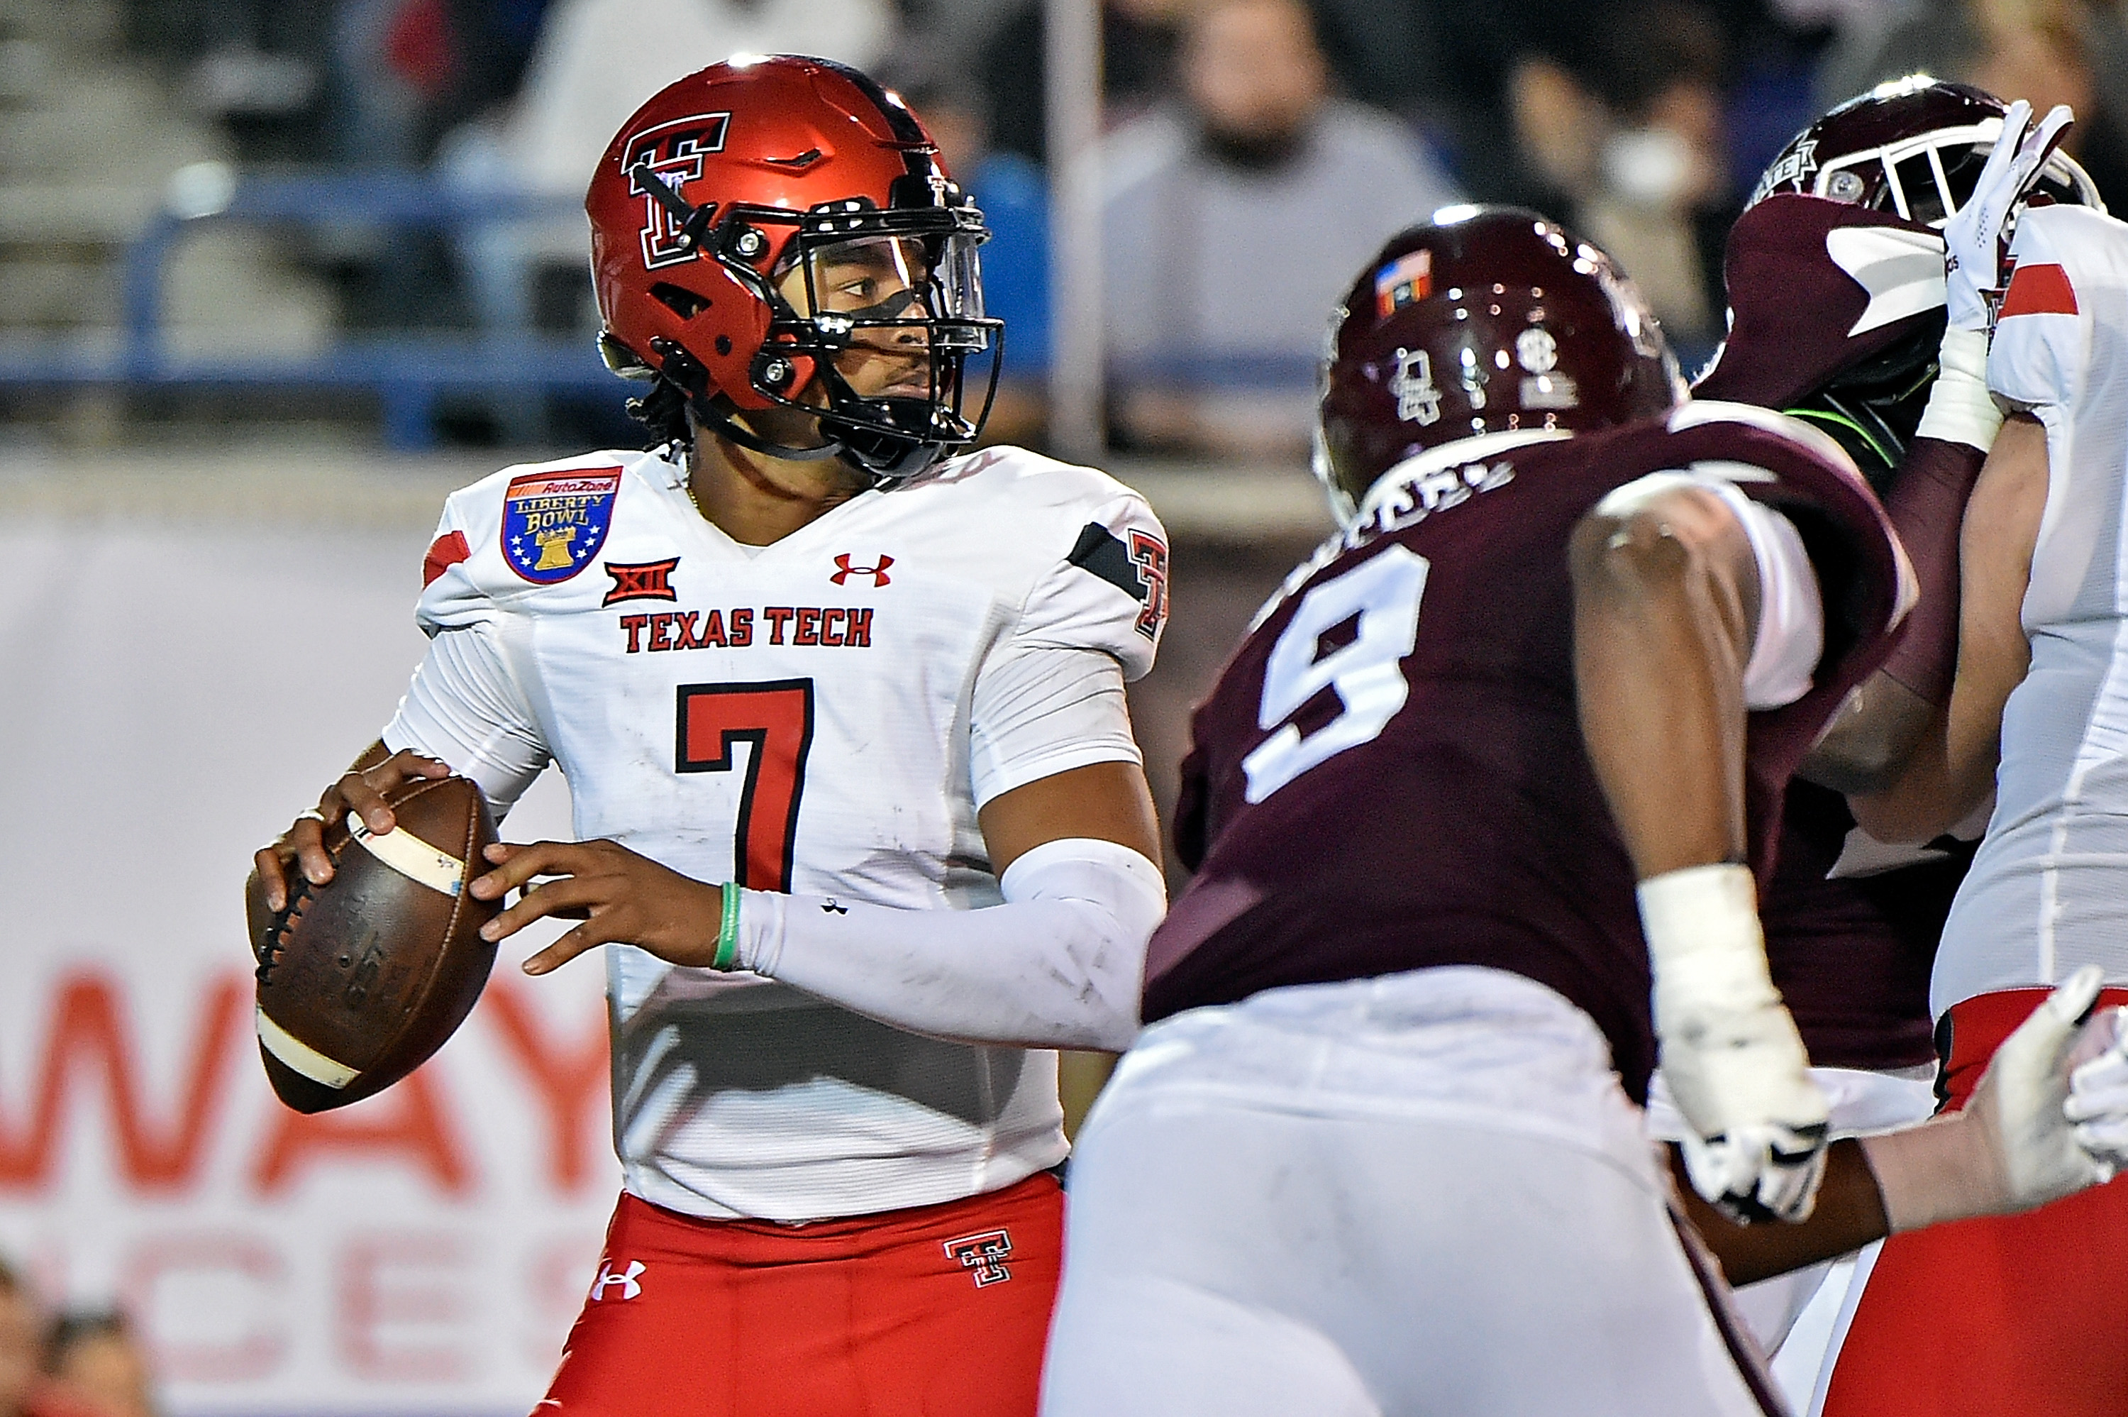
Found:
<svg viewBox="0 0 2128 1417"><path fill-rule="evenodd" d="M807 1226L624 1194L536 1417L1032 1417L1062 1255L1047 1172Z"/></svg>

